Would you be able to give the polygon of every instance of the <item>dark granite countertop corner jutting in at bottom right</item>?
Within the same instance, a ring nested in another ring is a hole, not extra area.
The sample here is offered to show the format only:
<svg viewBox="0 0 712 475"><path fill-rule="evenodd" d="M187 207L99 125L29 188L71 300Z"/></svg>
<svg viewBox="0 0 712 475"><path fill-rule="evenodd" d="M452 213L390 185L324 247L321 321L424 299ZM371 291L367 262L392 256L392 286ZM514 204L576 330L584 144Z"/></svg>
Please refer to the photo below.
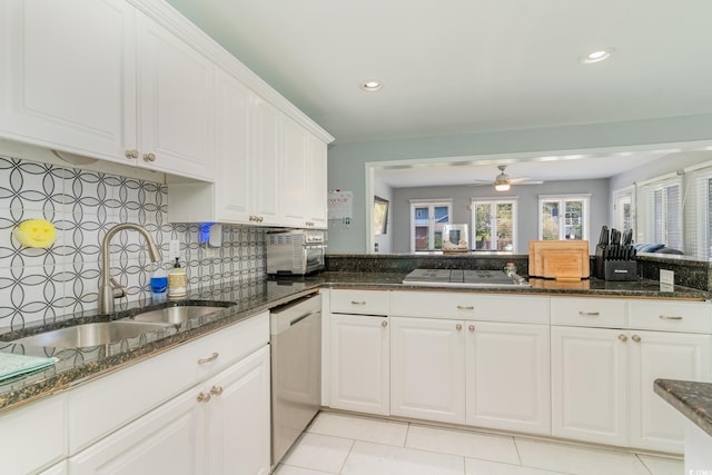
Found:
<svg viewBox="0 0 712 475"><path fill-rule="evenodd" d="M712 383L655 379L655 393L712 436Z"/></svg>

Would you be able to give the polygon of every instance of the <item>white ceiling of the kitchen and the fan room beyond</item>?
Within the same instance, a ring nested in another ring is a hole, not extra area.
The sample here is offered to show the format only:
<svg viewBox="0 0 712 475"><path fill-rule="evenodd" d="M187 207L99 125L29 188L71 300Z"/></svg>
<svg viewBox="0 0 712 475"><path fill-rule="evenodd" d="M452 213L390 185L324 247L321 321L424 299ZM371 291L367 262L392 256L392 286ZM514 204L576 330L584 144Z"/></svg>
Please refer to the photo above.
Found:
<svg viewBox="0 0 712 475"><path fill-rule="evenodd" d="M167 1L337 144L712 112L710 0Z"/></svg>

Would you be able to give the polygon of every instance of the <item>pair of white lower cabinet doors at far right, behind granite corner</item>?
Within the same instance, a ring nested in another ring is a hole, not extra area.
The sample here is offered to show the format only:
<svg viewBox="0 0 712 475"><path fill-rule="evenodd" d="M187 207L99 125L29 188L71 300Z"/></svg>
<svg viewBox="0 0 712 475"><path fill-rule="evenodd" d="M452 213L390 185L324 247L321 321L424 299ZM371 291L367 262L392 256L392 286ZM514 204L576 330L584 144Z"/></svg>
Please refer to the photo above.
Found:
<svg viewBox="0 0 712 475"><path fill-rule="evenodd" d="M710 335L552 327L552 434L681 453L683 418L656 378L709 380Z"/></svg>

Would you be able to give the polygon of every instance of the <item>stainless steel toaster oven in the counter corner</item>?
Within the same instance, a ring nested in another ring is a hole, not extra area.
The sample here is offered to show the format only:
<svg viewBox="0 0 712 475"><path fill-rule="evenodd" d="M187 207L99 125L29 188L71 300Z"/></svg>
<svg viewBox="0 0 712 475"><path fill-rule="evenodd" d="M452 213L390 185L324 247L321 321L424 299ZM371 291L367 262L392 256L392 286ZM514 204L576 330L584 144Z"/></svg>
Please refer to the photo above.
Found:
<svg viewBox="0 0 712 475"><path fill-rule="evenodd" d="M267 235L267 274L297 275L324 268L326 232L297 229Z"/></svg>

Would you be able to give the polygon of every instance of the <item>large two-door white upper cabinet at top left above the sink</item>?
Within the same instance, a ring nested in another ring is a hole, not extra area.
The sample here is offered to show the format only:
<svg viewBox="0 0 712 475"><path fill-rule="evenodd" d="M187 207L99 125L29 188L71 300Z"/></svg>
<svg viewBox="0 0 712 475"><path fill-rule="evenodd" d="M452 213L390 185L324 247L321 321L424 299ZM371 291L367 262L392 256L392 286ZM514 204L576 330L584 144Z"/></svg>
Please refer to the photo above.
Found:
<svg viewBox="0 0 712 475"><path fill-rule="evenodd" d="M0 135L212 179L211 61L123 1L0 8Z"/></svg>

